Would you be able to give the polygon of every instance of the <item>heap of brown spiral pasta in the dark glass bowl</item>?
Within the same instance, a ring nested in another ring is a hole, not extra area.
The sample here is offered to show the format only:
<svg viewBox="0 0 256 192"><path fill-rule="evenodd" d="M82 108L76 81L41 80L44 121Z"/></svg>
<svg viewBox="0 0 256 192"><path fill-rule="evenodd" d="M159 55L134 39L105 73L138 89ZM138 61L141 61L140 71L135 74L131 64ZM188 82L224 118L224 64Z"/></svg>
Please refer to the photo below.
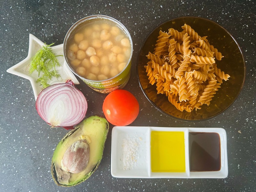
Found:
<svg viewBox="0 0 256 192"><path fill-rule="evenodd" d="M189 25L183 31L169 28L159 32L154 53L144 66L157 94L164 94L180 111L191 112L209 105L214 94L230 77L217 67L223 55ZM215 60L216 59L216 60Z"/></svg>

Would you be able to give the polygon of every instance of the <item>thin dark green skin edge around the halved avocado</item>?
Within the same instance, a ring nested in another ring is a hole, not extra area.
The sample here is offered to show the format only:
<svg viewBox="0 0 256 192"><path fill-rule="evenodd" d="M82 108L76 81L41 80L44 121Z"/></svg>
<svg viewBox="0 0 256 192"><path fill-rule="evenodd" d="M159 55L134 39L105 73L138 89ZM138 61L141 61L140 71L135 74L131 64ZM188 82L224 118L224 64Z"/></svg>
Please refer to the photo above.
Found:
<svg viewBox="0 0 256 192"><path fill-rule="evenodd" d="M102 146L102 155L101 155L100 159L98 160L97 164L92 168L92 170L91 170L82 180L77 181L76 183L70 184L70 185L61 184L61 183L59 183L59 181L58 181L57 174L56 174L56 169L55 169L55 164L54 164L54 156L55 156L56 153L57 153L57 152L56 152L56 149L57 149L57 147L58 147L59 145L61 145L61 144L63 143L63 141L64 141L65 139L67 139L70 135L72 135L72 134L73 134L74 132L76 132L76 131L79 131L79 128L80 128L83 124L84 124L84 125L89 124L90 121L96 121L96 122L97 122L97 121L102 121L102 122L104 122L104 123L106 124L106 127L105 127L105 128L106 128L107 131L106 131L106 134L105 134L105 137L104 137L104 145ZM107 121L105 118L102 118L102 117L100 117L100 116L90 116L90 117L84 119L84 120L83 120L82 122L80 122L78 125L76 125L76 126L75 126L75 129L70 130L70 131L62 138L62 140L60 140L60 142L58 143L57 147L56 147L55 150L54 150L54 153L53 153L53 156L52 156L52 165L51 165L52 179L53 179L53 181L55 182L56 185L62 186L62 187L71 187L71 186L78 185L78 184L84 182L85 180L87 180L87 179L92 175L92 173L96 171L96 169L97 169L98 166L100 165L100 161L101 161L101 159L102 159L102 157L103 157L103 151L104 151L105 142L106 142L106 139L107 139L107 136L108 136L108 131L109 131L109 124L108 124L108 121Z"/></svg>

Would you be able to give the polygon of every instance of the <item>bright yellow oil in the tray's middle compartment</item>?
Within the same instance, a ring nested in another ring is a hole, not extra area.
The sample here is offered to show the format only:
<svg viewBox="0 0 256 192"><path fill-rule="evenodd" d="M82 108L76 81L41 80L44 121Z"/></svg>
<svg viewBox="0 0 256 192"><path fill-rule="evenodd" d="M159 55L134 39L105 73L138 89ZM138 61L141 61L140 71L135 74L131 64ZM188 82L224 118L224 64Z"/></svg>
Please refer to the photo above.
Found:
<svg viewBox="0 0 256 192"><path fill-rule="evenodd" d="M186 171L184 132L151 131L151 171Z"/></svg>

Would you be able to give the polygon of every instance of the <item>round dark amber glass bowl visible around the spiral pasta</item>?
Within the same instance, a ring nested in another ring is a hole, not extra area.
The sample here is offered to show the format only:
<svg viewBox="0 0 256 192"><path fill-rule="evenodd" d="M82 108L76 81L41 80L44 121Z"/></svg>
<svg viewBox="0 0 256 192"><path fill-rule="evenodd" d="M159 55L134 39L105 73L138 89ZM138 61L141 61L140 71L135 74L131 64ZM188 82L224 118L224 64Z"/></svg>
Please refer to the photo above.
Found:
<svg viewBox="0 0 256 192"><path fill-rule="evenodd" d="M228 81L223 81L223 84L220 85L209 106L204 104L201 109L192 112L185 110L181 112L168 101L165 94L157 94L156 85L149 83L144 68L149 61L146 55L148 52L154 52L159 31L168 31L169 28L181 31L181 26L185 23L190 25L198 35L207 36L209 43L222 53L224 57L216 62L217 67L230 75ZM200 17L179 17L162 23L147 36L138 55L137 75L143 93L156 109L175 119L201 121L222 114L235 102L244 85L245 63L241 48L225 28L212 20Z"/></svg>

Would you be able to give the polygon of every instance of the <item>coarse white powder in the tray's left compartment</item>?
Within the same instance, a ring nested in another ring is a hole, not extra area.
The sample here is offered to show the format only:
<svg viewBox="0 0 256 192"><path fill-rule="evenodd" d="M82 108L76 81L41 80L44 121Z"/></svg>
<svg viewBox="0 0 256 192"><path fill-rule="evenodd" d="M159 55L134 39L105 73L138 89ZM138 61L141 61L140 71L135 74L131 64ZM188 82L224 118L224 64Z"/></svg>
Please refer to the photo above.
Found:
<svg viewBox="0 0 256 192"><path fill-rule="evenodd" d="M121 168L131 170L137 164L141 138L138 136L126 136L122 140Z"/></svg>

